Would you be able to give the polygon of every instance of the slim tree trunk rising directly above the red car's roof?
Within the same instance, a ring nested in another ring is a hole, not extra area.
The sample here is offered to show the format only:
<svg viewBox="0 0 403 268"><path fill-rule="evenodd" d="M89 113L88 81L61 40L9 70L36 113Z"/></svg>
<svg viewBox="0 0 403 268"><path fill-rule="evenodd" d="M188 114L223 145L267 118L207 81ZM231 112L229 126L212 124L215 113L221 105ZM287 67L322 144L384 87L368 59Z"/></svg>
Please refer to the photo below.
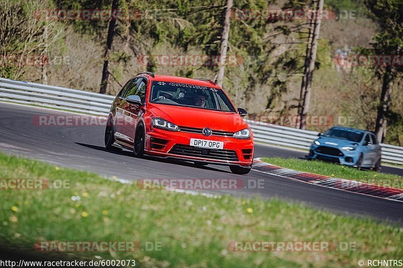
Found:
<svg viewBox="0 0 403 268"><path fill-rule="evenodd" d="M223 86L223 80L224 80L224 71L225 71L225 64L224 64L225 61L224 60L227 57L228 38L229 38L229 33L230 33L231 9L232 9L233 5L234 5L233 0L227 0L223 32L221 34L221 49L220 49L220 59L222 59L223 62L222 62L222 64L220 64L217 78L216 78L216 84L218 84L220 87Z"/></svg>

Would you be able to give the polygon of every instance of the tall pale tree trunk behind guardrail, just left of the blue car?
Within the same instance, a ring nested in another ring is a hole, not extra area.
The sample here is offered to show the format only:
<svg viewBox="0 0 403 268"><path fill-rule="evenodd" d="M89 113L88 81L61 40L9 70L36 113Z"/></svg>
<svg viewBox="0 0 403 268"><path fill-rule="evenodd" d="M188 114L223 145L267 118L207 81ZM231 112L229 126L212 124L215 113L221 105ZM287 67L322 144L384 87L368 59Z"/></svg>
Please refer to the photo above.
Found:
<svg viewBox="0 0 403 268"><path fill-rule="evenodd" d="M316 9L316 14L322 14L323 10L323 0L319 0L318 7ZM310 52L310 57L309 57L309 67L308 71L306 73L306 86L305 86L305 92L304 92L304 97L303 97L303 103L302 103L302 108L301 108L301 114L300 114L300 119L301 119L301 124L300 124L300 129L305 129L306 126L306 115L309 111L309 104L311 101L311 87L312 87L312 76L313 76L313 71L315 69L315 60L316 60L316 51L318 49L318 40L319 40L319 34L320 34L320 24L321 24L321 19L319 16L317 16L316 20L314 21L314 30L313 30L313 36L312 36L312 48Z"/></svg>

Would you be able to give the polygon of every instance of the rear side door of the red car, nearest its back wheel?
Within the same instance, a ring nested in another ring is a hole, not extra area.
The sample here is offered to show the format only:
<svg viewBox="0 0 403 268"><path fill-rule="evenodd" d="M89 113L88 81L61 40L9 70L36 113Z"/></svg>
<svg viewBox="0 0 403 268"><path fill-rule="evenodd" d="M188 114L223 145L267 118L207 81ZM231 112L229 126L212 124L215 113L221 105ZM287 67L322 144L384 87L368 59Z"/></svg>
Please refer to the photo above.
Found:
<svg viewBox="0 0 403 268"><path fill-rule="evenodd" d="M129 108L129 103L127 103L126 98L130 95L135 95L137 85L141 79L142 78L132 79L116 101L115 138L128 145L133 143L133 137L125 134L128 133L130 129L130 125L127 124L128 120L126 119L127 110Z"/></svg>

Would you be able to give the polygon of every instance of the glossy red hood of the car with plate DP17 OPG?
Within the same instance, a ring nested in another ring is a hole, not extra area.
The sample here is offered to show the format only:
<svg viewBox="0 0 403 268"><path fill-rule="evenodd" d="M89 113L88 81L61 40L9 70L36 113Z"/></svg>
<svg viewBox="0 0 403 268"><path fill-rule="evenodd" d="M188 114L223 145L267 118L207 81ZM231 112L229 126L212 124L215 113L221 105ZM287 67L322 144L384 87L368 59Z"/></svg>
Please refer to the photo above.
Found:
<svg viewBox="0 0 403 268"><path fill-rule="evenodd" d="M177 126L208 127L212 130L229 132L237 132L248 127L245 121L236 113L161 104L153 104L151 110L156 117L168 120Z"/></svg>

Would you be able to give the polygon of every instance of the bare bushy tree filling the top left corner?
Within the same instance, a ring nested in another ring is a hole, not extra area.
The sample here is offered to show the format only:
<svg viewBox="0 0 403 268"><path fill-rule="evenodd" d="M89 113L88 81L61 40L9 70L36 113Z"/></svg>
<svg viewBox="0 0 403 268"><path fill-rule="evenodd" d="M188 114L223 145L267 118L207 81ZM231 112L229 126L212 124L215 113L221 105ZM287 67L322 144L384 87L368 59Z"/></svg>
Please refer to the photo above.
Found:
<svg viewBox="0 0 403 268"><path fill-rule="evenodd" d="M55 21L32 16L48 5L45 0L0 0L0 77L20 79L33 55L40 55L40 65L48 63L48 47L62 37L62 29Z"/></svg>

